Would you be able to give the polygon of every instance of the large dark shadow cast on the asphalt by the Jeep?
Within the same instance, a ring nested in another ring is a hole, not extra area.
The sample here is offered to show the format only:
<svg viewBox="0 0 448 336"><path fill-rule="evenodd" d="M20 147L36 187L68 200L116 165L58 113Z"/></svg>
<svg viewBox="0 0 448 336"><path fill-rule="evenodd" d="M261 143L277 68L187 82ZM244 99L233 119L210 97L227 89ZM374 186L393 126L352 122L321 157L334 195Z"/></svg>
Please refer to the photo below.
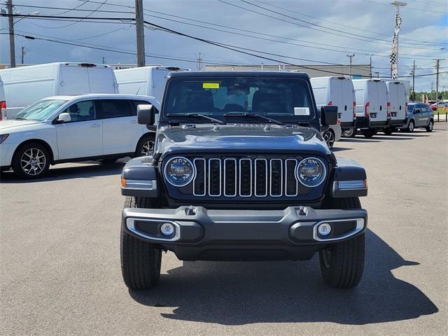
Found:
<svg viewBox="0 0 448 336"><path fill-rule="evenodd" d="M419 288L391 272L419 263L404 260L371 231L366 238L363 279L353 290L325 286L315 256L307 262L183 262L162 274L157 288L130 295L150 307L174 307L161 314L165 318L222 325L364 325L436 313Z"/></svg>

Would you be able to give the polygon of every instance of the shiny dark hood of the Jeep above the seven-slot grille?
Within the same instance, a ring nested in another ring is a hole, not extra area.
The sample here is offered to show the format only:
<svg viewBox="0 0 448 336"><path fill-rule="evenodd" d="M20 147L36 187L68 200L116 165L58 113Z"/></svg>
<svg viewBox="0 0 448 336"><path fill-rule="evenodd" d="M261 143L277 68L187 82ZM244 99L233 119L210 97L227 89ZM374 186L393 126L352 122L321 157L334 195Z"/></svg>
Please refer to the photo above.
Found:
<svg viewBox="0 0 448 336"><path fill-rule="evenodd" d="M162 127L158 149L163 156L197 153L309 153L331 155L314 128L261 124Z"/></svg>

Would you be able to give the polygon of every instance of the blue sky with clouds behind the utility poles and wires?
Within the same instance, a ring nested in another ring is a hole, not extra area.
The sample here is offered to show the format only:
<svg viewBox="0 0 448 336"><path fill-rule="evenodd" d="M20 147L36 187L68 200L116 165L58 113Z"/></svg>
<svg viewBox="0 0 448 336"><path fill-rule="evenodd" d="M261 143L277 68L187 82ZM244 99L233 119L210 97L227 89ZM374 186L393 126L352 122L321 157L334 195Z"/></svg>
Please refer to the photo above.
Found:
<svg viewBox="0 0 448 336"><path fill-rule="evenodd" d="M130 12L133 9L128 7L134 6L134 0L107 0L102 5L103 2L104 0L13 0L15 11L23 14L38 11L41 15L132 18L133 15ZM267 57L281 59L283 62L346 64L348 62L346 55L355 54L353 64L367 64L372 56L373 71L379 71L380 76L381 74L387 76L389 66L387 55L391 49L395 18L395 8L389 4L390 2L386 0L144 0L144 8L146 20L149 22L219 43L282 55L282 57ZM402 7L400 12L402 18L400 75L409 76L414 59L417 75L434 73L436 58L442 59L440 71L448 71L447 2L409 0L407 3L408 5ZM78 7L76 9L79 10L63 13L66 10L26 6L69 9ZM92 10L96 8L99 10L92 13ZM100 10L120 13L104 13ZM25 63L59 61L100 63L102 57L106 62L114 64L136 62L136 56L132 55L136 48L135 28L128 21L107 24L87 22L87 20L76 23L31 19L20 21L16 19L16 21L17 34L76 44L66 45L16 36L17 62L20 62L22 46L26 51ZM7 27L8 20L0 18L0 33L6 33ZM276 63L158 29L145 29L145 43L146 53L152 55L147 57L147 64L177 65L196 69L195 59L199 53L204 59L204 64ZM121 53L83 48L78 45L116 50ZM447 49L442 50L444 45ZM0 34L1 63L9 62L8 50L8 35ZM431 82L435 85L435 76L416 78L416 90L430 90ZM443 85L448 88L448 73L442 73L440 76L440 89Z"/></svg>

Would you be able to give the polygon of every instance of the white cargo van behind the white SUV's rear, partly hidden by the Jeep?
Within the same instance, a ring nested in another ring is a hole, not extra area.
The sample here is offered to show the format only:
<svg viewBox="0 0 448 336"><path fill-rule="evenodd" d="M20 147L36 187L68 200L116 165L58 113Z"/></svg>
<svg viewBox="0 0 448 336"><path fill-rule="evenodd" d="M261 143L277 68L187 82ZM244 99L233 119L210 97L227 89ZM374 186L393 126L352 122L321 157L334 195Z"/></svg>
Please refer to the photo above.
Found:
<svg viewBox="0 0 448 336"><path fill-rule="evenodd" d="M177 66L142 66L115 71L118 91L122 94L144 94L162 102L162 94L168 73L188 71Z"/></svg>

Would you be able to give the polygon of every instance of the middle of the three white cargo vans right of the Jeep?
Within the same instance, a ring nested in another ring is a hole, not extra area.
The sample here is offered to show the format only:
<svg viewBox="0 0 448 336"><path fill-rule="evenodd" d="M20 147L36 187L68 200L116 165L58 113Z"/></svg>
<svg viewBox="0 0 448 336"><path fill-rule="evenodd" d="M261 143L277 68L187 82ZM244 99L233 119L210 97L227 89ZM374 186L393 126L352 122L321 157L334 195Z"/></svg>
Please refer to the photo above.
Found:
<svg viewBox="0 0 448 336"><path fill-rule="evenodd" d="M353 79L356 97L356 128L372 137L389 127L387 85L381 79Z"/></svg>

